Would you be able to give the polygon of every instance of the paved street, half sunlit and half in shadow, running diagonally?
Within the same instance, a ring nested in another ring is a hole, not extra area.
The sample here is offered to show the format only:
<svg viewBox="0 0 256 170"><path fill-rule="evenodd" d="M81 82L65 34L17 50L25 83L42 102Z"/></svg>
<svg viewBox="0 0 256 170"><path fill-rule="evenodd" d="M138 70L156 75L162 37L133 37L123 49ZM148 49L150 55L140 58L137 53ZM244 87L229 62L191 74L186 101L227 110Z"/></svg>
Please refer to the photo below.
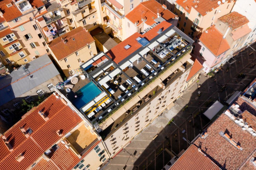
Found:
<svg viewBox="0 0 256 170"><path fill-rule="evenodd" d="M256 48L255 44L253 48ZM253 54L249 55L251 52ZM187 149L189 143L184 139L192 141L209 124L209 120L201 113L216 100L224 103L236 90L240 91L246 87L241 83L247 85L255 78L256 66L250 68L256 63L255 56L255 51L247 48L234 57L237 61L231 65L228 72L226 70L229 64L224 65L223 71L217 73L214 78L206 78L202 72L199 82L189 87L171 110L164 111L162 116L156 118L104 169L162 169L174 155ZM237 79L239 73L246 74L246 77ZM199 97L198 84L202 94ZM227 88L221 91L223 84L226 84ZM185 106L188 107L183 111ZM175 124L168 125L172 118ZM156 134L158 137L152 141Z"/></svg>

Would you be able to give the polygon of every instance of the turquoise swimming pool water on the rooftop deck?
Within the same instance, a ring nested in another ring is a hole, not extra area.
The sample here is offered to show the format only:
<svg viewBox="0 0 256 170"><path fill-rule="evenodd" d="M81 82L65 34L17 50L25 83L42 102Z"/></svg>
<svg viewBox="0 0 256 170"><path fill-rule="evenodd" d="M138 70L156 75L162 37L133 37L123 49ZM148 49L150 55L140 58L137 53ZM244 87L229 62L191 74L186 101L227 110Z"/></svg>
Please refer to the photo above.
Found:
<svg viewBox="0 0 256 170"><path fill-rule="evenodd" d="M78 109L83 107L85 104L90 102L101 93L100 89L93 82L89 82L88 84L86 84L80 89L80 91L83 94L78 96L77 99L73 101L74 105Z"/></svg>

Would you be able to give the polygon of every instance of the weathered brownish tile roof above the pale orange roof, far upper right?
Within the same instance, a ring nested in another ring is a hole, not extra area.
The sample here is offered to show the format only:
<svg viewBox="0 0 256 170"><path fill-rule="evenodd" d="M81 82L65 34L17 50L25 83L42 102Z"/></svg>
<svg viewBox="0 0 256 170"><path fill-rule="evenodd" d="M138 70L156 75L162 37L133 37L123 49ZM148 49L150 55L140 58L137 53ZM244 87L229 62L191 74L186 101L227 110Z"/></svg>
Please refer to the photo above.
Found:
<svg viewBox="0 0 256 170"><path fill-rule="evenodd" d="M218 20L231 25L232 30L237 29L249 22L246 16L243 16L235 11L218 18Z"/></svg>

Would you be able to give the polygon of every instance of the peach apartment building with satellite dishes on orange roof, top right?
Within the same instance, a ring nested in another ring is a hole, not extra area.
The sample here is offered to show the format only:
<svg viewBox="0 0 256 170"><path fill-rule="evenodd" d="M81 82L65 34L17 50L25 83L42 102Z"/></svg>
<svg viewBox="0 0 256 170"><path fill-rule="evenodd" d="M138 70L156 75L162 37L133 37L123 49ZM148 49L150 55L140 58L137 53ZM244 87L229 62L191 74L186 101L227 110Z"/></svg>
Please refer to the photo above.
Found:
<svg viewBox="0 0 256 170"><path fill-rule="evenodd" d="M177 0L174 14L178 15L177 27L190 38L215 25L217 19L230 13L233 0Z"/></svg>

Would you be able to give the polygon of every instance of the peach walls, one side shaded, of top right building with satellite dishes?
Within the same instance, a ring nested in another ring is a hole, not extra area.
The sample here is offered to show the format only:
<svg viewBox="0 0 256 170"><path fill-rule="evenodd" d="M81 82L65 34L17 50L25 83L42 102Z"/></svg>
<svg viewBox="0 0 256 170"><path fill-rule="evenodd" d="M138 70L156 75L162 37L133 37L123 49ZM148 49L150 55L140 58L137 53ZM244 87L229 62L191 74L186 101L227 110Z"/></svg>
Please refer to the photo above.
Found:
<svg viewBox="0 0 256 170"><path fill-rule="evenodd" d="M190 13L188 13L186 8L176 3L174 13L180 17L177 28L189 35L190 38L195 39L197 35L205 31L211 25L215 25L218 18L230 13L234 3L234 1L230 3L226 1L224 4L221 4L217 8L208 11L206 14L200 14L197 11L197 8L194 8L193 6L191 7Z"/></svg>

